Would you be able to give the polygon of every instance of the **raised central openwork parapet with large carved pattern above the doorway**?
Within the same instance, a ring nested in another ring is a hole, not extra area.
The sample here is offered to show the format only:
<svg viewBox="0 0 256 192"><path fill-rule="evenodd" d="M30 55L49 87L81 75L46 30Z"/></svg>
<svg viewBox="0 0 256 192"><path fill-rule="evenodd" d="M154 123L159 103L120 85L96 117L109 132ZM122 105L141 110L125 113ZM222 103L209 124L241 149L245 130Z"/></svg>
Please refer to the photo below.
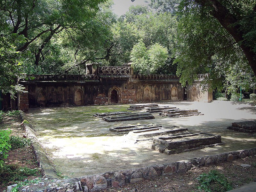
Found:
<svg viewBox="0 0 256 192"><path fill-rule="evenodd" d="M130 76L130 67L98 67L98 75Z"/></svg>

